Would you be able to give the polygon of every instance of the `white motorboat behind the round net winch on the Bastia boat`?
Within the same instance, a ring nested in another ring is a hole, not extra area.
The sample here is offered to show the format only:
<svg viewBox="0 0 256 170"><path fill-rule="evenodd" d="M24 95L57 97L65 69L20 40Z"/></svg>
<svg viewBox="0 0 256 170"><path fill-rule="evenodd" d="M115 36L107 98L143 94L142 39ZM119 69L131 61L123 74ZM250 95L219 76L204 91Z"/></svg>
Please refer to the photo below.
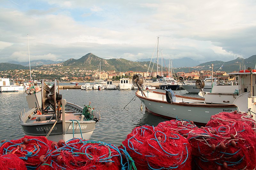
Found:
<svg viewBox="0 0 256 170"><path fill-rule="evenodd" d="M218 82L217 82L217 78L205 78L204 81L204 88L203 91L204 92L211 92L212 90L212 80L213 80L213 86L217 86ZM198 88L196 86L196 82L195 83L185 83L182 85L182 88L187 90L188 93L199 93L200 92L200 88ZM202 90L201 90L202 91Z"/></svg>

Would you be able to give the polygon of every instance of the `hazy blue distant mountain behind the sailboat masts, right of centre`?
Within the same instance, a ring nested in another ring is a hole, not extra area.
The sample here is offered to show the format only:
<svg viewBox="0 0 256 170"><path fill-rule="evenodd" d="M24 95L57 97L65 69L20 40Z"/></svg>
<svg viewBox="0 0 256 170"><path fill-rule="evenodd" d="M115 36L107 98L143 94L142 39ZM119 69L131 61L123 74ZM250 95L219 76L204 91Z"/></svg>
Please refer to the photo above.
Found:
<svg viewBox="0 0 256 170"><path fill-rule="evenodd" d="M150 61L151 59L141 59L140 61ZM158 63L159 65L161 65L162 60L160 58L158 58ZM165 63L165 65L164 65ZM173 59L172 60L172 66L173 67L195 67L197 66L199 63L199 61L195 61L191 58L182 58L182 59ZM169 67L169 60L164 59L163 60L163 66Z"/></svg>

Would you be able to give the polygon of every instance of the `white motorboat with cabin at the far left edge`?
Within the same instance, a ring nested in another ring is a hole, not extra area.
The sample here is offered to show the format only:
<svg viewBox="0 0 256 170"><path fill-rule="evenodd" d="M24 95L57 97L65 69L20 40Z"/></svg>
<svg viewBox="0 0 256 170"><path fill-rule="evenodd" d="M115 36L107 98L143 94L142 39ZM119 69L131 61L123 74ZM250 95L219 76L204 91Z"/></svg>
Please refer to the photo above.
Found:
<svg viewBox="0 0 256 170"><path fill-rule="evenodd" d="M24 91L23 85L11 85L9 78L0 78L0 92L19 92Z"/></svg>

